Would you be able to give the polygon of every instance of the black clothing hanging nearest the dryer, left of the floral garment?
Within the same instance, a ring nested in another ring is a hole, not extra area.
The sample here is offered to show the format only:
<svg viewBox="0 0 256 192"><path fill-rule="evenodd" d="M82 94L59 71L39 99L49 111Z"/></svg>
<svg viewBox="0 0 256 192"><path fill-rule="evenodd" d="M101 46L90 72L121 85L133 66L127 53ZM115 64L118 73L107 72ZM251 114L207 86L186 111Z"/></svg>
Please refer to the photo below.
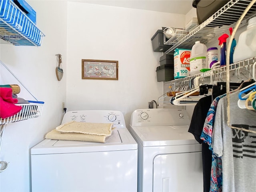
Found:
<svg viewBox="0 0 256 192"><path fill-rule="evenodd" d="M212 151L209 149L208 144L204 143L201 139L201 133L204 127L204 122L212 104L212 96L201 98L195 108L191 118L190 127L188 132L192 133L195 139L202 143L202 164L203 164L203 179L204 179L204 192L210 191L210 177L212 168Z"/></svg>

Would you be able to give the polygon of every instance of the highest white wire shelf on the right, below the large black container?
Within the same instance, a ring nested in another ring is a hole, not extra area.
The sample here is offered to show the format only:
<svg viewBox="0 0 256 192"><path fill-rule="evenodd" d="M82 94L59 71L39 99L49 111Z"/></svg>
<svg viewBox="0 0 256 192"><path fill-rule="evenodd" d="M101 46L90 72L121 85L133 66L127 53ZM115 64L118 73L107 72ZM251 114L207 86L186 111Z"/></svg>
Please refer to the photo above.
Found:
<svg viewBox="0 0 256 192"><path fill-rule="evenodd" d="M173 54L175 48L191 49L196 41L206 44L214 37L220 36L235 25L251 0L230 0L220 10L214 13L210 18L192 30L189 34L179 40L164 54ZM256 13L256 5L252 6L245 17L245 20Z"/></svg>

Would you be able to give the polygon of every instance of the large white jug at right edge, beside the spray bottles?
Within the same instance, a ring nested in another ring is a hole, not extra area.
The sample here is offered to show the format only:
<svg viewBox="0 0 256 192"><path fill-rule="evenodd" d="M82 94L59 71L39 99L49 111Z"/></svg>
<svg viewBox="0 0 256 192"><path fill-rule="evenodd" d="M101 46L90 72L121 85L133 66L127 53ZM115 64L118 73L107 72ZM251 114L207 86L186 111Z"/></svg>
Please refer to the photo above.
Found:
<svg viewBox="0 0 256 192"><path fill-rule="evenodd" d="M234 50L234 62L256 56L256 17L248 21L247 30L242 32Z"/></svg>

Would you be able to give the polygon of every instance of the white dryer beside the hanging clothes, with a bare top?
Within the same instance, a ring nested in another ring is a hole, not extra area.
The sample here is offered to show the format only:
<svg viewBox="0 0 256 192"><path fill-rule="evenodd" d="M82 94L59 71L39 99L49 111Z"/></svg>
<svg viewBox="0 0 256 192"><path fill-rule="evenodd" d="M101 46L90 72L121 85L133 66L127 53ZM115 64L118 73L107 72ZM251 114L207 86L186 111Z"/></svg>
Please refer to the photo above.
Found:
<svg viewBox="0 0 256 192"><path fill-rule="evenodd" d="M203 191L201 145L186 110L140 109L129 131L138 143L138 192Z"/></svg>

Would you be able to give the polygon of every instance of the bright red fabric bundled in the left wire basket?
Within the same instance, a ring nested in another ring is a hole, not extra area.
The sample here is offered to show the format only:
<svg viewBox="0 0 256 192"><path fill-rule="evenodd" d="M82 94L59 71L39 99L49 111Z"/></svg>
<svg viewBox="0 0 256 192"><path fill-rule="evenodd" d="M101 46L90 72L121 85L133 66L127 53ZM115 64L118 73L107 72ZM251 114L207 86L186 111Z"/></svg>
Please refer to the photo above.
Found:
<svg viewBox="0 0 256 192"><path fill-rule="evenodd" d="M12 88L0 88L0 118L7 118L20 112L21 106L16 106L18 100L12 98Z"/></svg>

